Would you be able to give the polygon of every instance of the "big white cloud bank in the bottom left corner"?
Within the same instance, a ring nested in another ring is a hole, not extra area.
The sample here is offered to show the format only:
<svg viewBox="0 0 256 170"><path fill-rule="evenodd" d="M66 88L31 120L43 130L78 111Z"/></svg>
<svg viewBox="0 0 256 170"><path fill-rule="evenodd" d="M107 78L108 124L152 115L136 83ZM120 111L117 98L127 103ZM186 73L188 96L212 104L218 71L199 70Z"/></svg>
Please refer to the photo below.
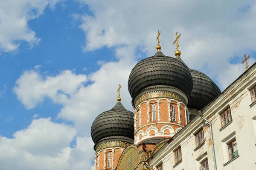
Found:
<svg viewBox="0 0 256 170"><path fill-rule="evenodd" d="M90 137L76 137L76 130L50 118L33 120L14 138L0 136L1 170L90 170L93 144Z"/></svg>

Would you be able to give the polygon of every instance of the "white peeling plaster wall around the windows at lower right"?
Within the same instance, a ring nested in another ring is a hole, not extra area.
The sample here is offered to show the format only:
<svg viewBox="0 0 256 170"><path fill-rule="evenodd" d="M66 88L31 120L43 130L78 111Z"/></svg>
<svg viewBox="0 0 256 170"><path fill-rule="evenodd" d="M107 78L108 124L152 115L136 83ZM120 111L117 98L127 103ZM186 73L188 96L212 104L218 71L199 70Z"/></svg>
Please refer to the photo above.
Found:
<svg viewBox="0 0 256 170"><path fill-rule="evenodd" d="M247 75L242 76L236 82L230 86L230 89L226 89L224 92L230 95L229 92L234 92L236 88L239 88L238 81L244 81L248 78L253 78L250 83L244 86L244 88L233 99L229 100L225 106L218 108L217 111L211 117L207 119L212 122L213 138L215 143L215 154L218 170L255 170L256 169L256 104L252 104L250 98L250 88L256 85L256 65L251 68ZM230 91L231 90L231 91ZM224 93L224 94L225 94ZM225 96L224 96L225 97ZM220 96L215 100L212 106L206 108L204 113L207 114L207 109L212 109L214 104L221 103ZM216 104L216 106L217 106ZM232 121L225 127L221 128L220 115L221 112L230 107L232 114ZM208 159L209 169L213 170L213 158L209 125L204 122L198 126L198 122L201 118L198 116L190 122L184 130L177 133L176 138L161 148L153 158L149 158L149 164L156 170L155 165L159 162L163 162L163 170L199 170L200 162L204 159ZM195 132L203 127L205 142L200 147L196 148L195 144ZM185 138L181 140L185 133L193 129L189 134L186 134ZM227 143L236 138L239 157L229 160ZM177 142L176 142L177 141ZM182 161L175 165L175 158L173 151L181 146ZM227 163L229 162L229 163ZM227 163L227 164L226 164Z"/></svg>

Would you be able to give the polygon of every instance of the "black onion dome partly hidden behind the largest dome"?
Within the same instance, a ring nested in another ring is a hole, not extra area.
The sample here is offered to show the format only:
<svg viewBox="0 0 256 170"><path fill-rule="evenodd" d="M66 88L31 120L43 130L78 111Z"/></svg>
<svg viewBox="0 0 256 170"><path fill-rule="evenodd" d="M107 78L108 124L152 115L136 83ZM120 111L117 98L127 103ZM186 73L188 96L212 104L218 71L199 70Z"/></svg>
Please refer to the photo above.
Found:
<svg viewBox="0 0 256 170"><path fill-rule="evenodd" d="M193 78L193 89L189 96L187 107L190 109L201 110L221 94L221 90L212 79L204 73L193 69L189 70Z"/></svg>

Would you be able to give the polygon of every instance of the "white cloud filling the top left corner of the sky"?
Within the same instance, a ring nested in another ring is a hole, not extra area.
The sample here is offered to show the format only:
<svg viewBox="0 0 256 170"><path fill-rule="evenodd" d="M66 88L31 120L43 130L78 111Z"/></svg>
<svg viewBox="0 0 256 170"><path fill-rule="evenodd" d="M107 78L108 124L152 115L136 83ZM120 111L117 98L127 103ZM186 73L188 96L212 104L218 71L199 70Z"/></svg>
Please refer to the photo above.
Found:
<svg viewBox="0 0 256 170"><path fill-rule="evenodd" d="M0 5L0 51L16 50L21 41L30 48L38 45L40 38L29 28L29 20L44 13L47 5L54 8L60 0L1 0Z"/></svg>

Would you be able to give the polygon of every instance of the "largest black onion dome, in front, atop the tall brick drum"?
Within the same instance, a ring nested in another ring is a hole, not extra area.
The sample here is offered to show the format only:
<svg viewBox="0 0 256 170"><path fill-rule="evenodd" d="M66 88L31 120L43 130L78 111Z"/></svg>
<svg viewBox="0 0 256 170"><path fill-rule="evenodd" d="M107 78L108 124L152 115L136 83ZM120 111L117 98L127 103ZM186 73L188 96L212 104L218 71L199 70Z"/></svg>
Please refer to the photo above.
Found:
<svg viewBox="0 0 256 170"><path fill-rule="evenodd" d="M172 86L189 96L192 84L189 68L183 61L158 51L134 66L129 76L128 89L132 98L143 89L156 85Z"/></svg>

